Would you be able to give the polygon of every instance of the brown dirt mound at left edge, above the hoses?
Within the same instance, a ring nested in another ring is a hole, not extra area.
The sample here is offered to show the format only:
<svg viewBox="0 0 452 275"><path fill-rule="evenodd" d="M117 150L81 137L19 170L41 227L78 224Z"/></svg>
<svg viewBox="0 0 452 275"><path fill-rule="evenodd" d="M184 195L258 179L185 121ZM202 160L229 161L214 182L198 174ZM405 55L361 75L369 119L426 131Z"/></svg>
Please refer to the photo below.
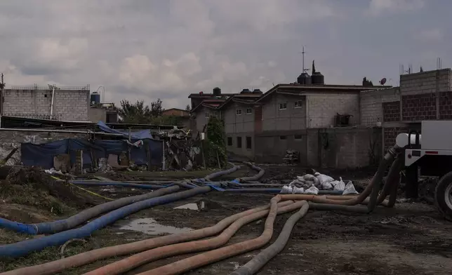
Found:
<svg viewBox="0 0 452 275"><path fill-rule="evenodd" d="M98 204L99 199L68 182L55 180L40 168L13 168L0 183L0 198L7 203L67 213Z"/></svg>

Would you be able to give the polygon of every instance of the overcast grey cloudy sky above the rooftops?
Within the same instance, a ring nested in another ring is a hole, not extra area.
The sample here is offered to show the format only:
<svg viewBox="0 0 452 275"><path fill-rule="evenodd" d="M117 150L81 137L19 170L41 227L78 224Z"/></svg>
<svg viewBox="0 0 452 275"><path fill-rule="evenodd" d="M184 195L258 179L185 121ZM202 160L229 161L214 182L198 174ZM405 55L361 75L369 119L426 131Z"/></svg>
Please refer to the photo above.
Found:
<svg viewBox="0 0 452 275"><path fill-rule="evenodd" d="M307 67L329 84L397 85L452 63L450 0L2 0L7 86L105 86L121 99L185 107L189 93L267 90Z"/></svg>

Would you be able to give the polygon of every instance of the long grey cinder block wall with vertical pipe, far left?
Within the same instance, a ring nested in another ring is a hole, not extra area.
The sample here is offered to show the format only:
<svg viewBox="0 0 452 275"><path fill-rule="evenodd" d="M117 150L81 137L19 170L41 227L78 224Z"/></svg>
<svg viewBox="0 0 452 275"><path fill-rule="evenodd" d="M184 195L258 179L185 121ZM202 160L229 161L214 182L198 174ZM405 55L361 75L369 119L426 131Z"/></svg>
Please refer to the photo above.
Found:
<svg viewBox="0 0 452 275"><path fill-rule="evenodd" d="M88 121L88 90L55 90L53 118ZM50 119L52 90L4 90L4 115Z"/></svg>

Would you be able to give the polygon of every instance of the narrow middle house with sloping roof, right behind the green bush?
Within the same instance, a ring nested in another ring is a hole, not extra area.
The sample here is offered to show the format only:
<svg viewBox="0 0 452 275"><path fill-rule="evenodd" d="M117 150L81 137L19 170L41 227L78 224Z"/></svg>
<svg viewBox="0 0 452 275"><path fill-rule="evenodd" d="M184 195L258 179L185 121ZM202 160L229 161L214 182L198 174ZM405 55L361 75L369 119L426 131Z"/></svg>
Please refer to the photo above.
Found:
<svg viewBox="0 0 452 275"><path fill-rule="evenodd" d="M229 152L254 156L255 103L262 91L244 89L228 98L217 109L225 122L226 145Z"/></svg>

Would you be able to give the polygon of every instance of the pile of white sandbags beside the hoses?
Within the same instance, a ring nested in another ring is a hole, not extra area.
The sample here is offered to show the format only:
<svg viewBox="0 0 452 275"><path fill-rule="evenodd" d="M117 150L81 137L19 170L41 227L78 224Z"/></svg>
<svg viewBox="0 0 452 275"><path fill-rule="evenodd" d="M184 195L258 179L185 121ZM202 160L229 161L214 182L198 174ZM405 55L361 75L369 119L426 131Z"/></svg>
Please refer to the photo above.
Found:
<svg viewBox="0 0 452 275"><path fill-rule="evenodd" d="M342 177L334 180L333 177L316 172L297 176L290 184L284 185L282 194L319 194L319 190L335 191L338 194L358 194L352 181L343 182Z"/></svg>

